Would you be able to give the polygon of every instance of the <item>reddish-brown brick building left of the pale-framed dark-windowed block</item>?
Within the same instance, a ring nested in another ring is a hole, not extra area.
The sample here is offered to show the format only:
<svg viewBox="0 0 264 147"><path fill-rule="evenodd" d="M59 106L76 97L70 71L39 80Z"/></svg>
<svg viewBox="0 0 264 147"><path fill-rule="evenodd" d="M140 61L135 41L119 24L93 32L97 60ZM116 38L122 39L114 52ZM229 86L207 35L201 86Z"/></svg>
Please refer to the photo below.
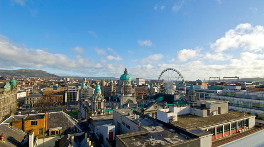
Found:
<svg viewBox="0 0 264 147"><path fill-rule="evenodd" d="M42 96L43 106L56 106L62 105L63 103L63 94L62 93L49 93Z"/></svg>

